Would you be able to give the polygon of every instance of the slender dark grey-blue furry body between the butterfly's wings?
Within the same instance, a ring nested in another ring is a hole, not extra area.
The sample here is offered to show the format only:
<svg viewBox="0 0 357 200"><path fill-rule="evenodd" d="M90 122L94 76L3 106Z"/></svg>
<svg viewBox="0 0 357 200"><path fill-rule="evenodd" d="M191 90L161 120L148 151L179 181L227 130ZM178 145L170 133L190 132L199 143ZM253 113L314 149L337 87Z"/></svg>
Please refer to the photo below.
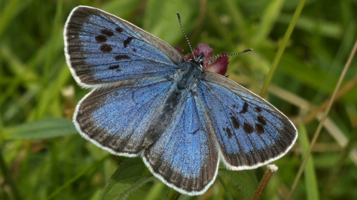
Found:
<svg viewBox="0 0 357 200"><path fill-rule="evenodd" d="M152 145L166 131L167 125L171 123L175 111L179 110L179 102L187 93L193 93L197 81L202 76L201 59L193 58L188 62L179 65L177 77L171 86L169 93L152 120L150 127L144 139L143 147L147 148Z"/></svg>

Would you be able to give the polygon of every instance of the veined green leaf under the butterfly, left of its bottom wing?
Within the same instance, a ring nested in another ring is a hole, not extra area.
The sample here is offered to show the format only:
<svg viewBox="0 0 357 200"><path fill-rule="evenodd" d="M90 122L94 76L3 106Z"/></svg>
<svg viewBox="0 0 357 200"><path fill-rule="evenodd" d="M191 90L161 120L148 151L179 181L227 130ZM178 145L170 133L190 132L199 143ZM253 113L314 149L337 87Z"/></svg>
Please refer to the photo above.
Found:
<svg viewBox="0 0 357 200"><path fill-rule="evenodd" d="M125 199L147 182L156 180L141 158L122 162L106 184L100 200Z"/></svg>

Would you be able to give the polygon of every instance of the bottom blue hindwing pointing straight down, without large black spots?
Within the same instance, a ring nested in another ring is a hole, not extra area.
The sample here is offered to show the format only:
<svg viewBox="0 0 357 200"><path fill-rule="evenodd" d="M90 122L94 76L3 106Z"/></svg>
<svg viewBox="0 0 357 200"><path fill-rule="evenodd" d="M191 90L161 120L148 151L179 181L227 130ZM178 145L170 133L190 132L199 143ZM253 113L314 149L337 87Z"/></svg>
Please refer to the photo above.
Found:
<svg viewBox="0 0 357 200"><path fill-rule="evenodd" d="M201 195L214 182L218 153L203 117L188 92L161 137L142 155L150 171L182 194ZM202 119L202 120L201 120Z"/></svg>

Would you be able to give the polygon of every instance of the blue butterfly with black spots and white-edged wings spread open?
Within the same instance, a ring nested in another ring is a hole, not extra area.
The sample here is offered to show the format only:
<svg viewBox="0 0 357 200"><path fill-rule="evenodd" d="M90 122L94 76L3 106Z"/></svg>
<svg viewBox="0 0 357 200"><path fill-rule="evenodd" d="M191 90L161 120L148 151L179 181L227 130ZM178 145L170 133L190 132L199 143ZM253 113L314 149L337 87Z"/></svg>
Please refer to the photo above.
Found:
<svg viewBox="0 0 357 200"><path fill-rule="evenodd" d="M212 72L228 58L208 62L205 45L187 57L88 6L71 11L63 35L73 78L92 89L74 111L78 132L113 154L141 156L155 177L182 194L205 193L220 162L254 169L282 157L297 139L277 108L224 70Z"/></svg>

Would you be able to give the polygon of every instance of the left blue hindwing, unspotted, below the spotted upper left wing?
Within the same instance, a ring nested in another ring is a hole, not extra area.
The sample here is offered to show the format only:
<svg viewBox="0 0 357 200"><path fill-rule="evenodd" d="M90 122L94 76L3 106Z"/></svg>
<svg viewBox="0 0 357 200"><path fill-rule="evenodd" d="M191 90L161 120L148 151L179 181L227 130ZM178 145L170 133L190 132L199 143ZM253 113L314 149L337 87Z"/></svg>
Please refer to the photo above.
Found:
<svg viewBox="0 0 357 200"><path fill-rule="evenodd" d="M136 156L171 85L171 81L157 79L130 87L95 89L78 103L73 122L84 138L100 148Z"/></svg>

